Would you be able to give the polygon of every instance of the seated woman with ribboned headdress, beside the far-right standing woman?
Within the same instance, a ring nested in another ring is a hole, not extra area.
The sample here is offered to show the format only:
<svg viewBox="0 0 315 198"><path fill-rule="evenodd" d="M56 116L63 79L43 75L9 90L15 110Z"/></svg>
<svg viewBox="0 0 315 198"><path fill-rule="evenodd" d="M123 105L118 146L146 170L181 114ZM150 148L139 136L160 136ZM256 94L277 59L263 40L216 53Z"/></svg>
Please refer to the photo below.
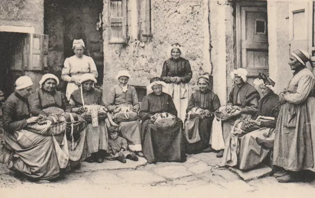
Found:
<svg viewBox="0 0 315 198"><path fill-rule="evenodd" d="M274 146L275 128L281 102L274 93L275 82L262 75L256 79L263 98L258 103L257 113L252 119L237 120L225 144L222 164L246 170L254 168L270 155Z"/></svg>

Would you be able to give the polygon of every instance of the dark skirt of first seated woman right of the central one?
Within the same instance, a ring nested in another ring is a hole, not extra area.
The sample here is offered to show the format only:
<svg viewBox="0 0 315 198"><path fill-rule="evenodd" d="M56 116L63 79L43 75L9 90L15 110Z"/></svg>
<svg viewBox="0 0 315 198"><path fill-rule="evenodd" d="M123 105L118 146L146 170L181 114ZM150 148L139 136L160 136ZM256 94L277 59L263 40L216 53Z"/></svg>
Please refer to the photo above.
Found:
<svg viewBox="0 0 315 198"><path fill-rule="evenodd" d="M195 143L188 143L186 140L186 153L197 154L204 149L209 148L213 118L199 119L199 136L200 140Z"/></svg>

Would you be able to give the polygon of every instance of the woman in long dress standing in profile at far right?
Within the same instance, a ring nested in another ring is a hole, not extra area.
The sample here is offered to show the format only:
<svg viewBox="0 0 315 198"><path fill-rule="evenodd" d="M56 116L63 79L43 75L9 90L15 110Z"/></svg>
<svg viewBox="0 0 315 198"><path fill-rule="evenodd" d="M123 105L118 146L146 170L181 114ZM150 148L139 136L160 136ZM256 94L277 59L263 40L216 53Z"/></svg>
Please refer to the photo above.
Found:
<svg viewBox="0 0 315 198"><path fill-rule="evenodd" d="M283 105L276 126L273 165L283 168L274 175L284 183L296 181L297 171L314 167L315 77L306 67L309 58L299 49L290 54L293 78L279 95Z"/></svg>

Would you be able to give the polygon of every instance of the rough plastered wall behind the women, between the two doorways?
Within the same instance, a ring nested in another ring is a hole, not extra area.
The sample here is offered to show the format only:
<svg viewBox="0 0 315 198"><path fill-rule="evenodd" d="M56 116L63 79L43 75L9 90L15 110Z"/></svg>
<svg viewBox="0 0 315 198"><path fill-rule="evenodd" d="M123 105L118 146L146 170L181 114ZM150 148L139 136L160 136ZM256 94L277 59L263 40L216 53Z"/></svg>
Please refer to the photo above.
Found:
<svg viewBox="0 0 315 198"><path fill-rule="evenodd" d="M108 19L108 0L104 0L103 21ZM128 32L126 44L109 44L108 24L104 24L104 93L108 93L119 70L129 70L130 84L145 86L149 79L160 76L163 62L170 58L167 50L175 42L184 47L193 72L190 84L196 89L196 78L204 72L211 72L209 57L208 0L151 0L152 34L151 42L133 52L134 17L136 7L128 1ZM132 32L133 31L133 32ZM105 97L106 98L106 97Z"/></svg>

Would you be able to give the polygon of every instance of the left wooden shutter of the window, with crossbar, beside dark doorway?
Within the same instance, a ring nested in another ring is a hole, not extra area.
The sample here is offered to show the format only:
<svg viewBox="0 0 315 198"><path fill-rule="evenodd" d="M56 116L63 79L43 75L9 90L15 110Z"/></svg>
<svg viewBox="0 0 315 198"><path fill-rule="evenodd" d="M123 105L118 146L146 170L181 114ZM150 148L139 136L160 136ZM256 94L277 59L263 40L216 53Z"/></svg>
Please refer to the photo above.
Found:
<svg viewBox="0 0 315 198"><path fill-rule="evenodd" d="M109 1L109 42L126 43L126 0Z"/></svg>

